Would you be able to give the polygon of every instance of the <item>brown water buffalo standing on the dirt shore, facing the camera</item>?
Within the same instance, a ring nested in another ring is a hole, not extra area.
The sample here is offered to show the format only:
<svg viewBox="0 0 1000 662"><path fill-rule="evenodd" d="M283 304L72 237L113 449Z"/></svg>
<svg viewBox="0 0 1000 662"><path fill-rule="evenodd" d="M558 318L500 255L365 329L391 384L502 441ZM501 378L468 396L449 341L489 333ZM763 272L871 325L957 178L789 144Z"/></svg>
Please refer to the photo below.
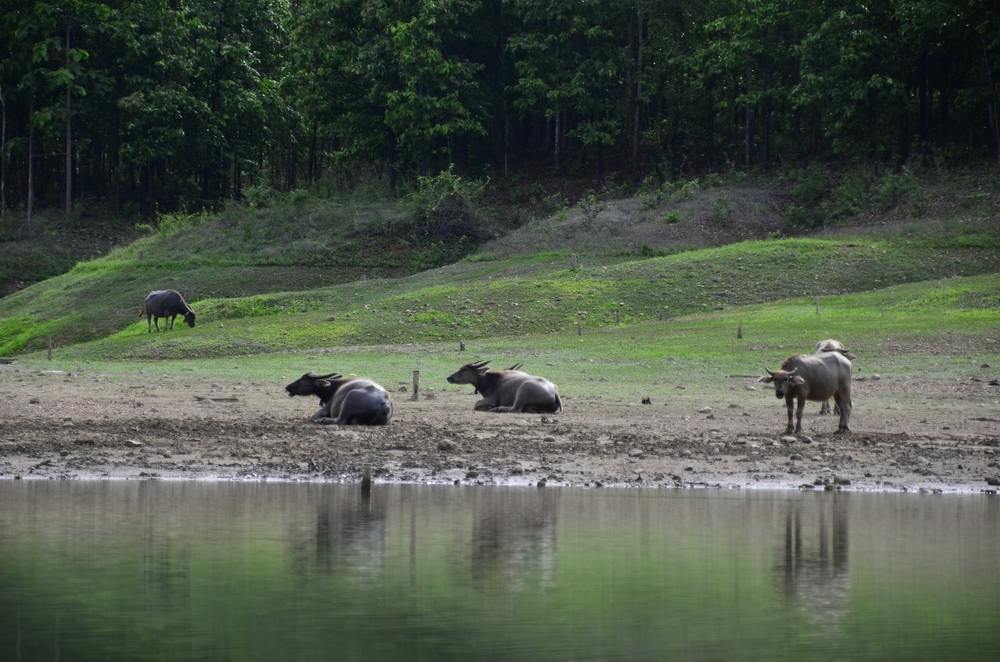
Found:
<svg viewBox="0 0 1000 662"><path fill-rule="evenodd" d="M822 402L833 398L840 408L837 432L850 432L851 419L851 362L840 352L796 354L785 359L781 369L771 372L764 368L767 377L760 381L774 384L774 394L784 398L788 406L788 427L785 434L802 433L802 410L806 400ZM798 400L795 427L792 427L792 401Z"/></svg>

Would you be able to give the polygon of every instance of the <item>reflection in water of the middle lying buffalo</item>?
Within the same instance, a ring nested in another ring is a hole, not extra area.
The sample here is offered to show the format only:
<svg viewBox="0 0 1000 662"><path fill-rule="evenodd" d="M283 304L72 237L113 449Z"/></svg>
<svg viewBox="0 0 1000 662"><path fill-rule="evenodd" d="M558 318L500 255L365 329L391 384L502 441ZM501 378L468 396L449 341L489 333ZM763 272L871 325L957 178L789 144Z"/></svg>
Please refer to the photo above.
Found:
<svg viewBox="0 0 1000 662"><path fill-rule="evenodd" d="M555 490L476 498L469 553L473 585L511 592L551 588L558 509Z"/></svg>

